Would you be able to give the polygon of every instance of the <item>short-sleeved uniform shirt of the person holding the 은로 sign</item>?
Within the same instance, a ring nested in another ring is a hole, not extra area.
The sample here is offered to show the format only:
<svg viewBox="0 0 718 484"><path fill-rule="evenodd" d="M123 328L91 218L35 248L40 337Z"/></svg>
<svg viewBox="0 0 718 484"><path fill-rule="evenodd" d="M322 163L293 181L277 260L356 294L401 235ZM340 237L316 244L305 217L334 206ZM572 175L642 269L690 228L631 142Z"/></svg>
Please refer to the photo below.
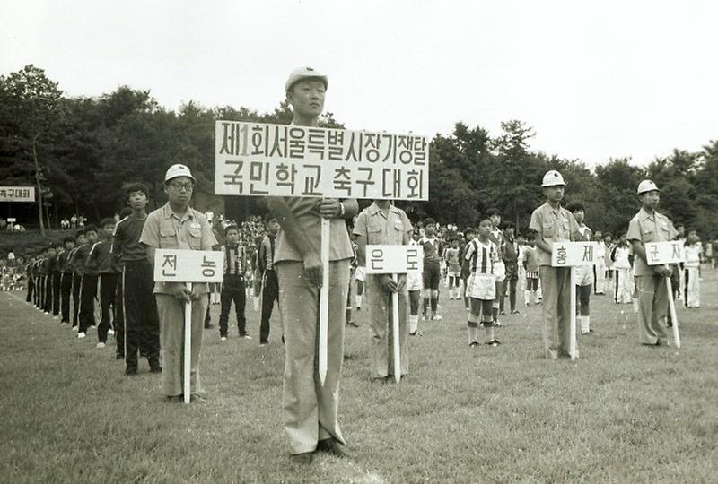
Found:
<svg viewBox="0 0 718 484"><path fill-rule="evenodd" d="M385 215L376 203L366 207L357 217L354 225L355 235L366 238L367 244L387 244L401 246L404 235L411 230L407 214L393 205Z"/></svg>

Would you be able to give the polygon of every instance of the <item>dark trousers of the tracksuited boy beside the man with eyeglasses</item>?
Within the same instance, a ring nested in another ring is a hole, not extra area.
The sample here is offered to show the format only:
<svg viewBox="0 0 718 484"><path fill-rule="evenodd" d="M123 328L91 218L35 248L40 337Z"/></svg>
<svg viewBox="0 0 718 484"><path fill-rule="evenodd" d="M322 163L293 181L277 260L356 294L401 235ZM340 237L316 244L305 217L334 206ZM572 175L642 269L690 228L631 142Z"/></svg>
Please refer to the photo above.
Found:
<svg viewBox="0 0 718 484"><path fill-rule="evenodd" d="M125 263L123 296L125 305L125 364L137 368L140 347L147 354L150 367L160 365L160 321L154 288L152 266L145 260ZM182 324L182 322L178 322Z"/></svg>

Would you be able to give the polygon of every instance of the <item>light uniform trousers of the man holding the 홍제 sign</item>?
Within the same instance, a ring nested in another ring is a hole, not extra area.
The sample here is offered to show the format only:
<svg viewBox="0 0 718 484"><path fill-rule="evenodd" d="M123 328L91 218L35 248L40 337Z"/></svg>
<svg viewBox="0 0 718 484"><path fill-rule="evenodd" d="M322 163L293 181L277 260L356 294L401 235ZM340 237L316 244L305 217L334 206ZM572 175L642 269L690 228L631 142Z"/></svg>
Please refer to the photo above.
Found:
<svg viewBox="0 0 718 484"><path fill-rule="evenodd" d="M544 352L547 359L570 357L571 267L541 265Z"/></svg>

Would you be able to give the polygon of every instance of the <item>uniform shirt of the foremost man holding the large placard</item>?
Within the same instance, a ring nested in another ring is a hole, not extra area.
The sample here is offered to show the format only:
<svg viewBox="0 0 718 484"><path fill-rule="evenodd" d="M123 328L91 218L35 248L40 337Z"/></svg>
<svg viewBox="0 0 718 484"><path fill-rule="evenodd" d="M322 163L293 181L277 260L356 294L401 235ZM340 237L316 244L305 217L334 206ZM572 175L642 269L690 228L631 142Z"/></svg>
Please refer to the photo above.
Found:
<svg viewBox="0 0 718 484"><path fill-rule="evenodd" d="M321 249L321 217L318 203L320 198L286 196L285 202L294 214L299 226L304 230L307 238L317 254ZM353 256L352 242L346 230L344 219L329 220L329 260L341 261L351 259ZM303 261L302 253L294 246L293 241L287 237L285 230L281 230L276 238L275 264L282 261Z"/></svg>

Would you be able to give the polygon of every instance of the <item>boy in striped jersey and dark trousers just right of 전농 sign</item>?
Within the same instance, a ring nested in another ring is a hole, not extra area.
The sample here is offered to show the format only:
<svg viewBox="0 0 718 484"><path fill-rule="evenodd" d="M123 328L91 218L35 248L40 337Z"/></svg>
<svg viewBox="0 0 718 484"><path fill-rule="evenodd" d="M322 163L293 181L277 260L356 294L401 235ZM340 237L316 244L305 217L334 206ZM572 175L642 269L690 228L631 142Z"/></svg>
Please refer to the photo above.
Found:
<svg viewBox="0 0 718 484"><path fill-rule="evenodd" d="M244 274L249 267L247 251L240 244L240 229L232 224L224 230L226 245L221 248L224 253L224 277L222 292L220 294L219 337L220 341L227 341L228 322L232 301L237 316L237 328L241 340L251 340L247 334L247 319L244 309L247 303L247 293L244 287Z"/></svg>

